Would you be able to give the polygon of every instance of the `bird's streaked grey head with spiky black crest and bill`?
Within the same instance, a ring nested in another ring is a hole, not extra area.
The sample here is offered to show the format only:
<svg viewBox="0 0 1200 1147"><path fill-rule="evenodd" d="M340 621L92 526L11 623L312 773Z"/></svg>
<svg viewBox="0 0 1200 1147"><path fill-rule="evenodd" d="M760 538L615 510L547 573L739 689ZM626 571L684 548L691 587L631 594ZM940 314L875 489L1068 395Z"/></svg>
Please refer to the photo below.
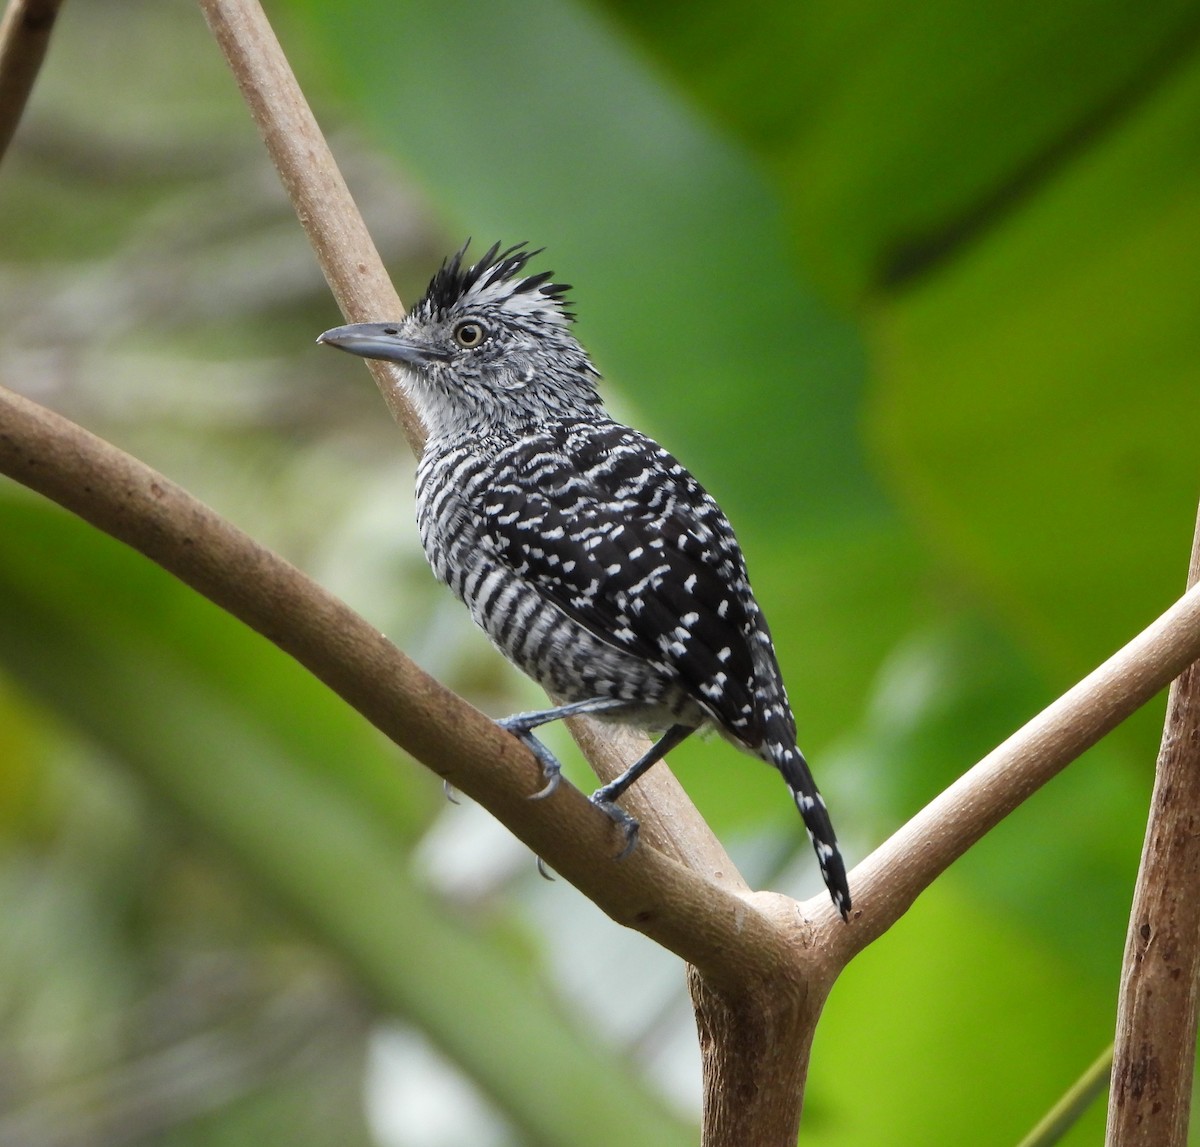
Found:
<svg viewBox="0 0 1200 1147"><path fill-rule="evenodd" d="M464 246L397 323L355 323L317 342L396 362L432 437L518 430L595 412L599 374L571 334L563 283L551 271L522 276L538 254L496 244L463 265Z"/></svg>

